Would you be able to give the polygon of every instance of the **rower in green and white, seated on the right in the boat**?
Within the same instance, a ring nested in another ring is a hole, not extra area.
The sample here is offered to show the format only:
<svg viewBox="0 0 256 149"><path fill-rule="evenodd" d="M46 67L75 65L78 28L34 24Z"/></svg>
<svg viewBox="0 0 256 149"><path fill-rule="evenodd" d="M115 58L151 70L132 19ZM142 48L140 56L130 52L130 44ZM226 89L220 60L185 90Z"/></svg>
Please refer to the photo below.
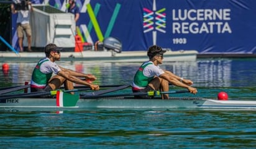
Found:
<svg viewBox="0 0 256 149"><path fill-rule="evenodd" d="M149 91L169 91L169 83L188 89L190 93L198 93L196 88L191 87L193 81L176 76L171 71L162 70L159 65L163 63L163 54L166 51L158 45L149 47L147 56L149 61L145 61L139 70L135 73L134 81L132 82L132 91L149 92ZM150 96L134 96L136 98L151 98ZM168 99L168 94L162 94L162 99Z"/></svg>

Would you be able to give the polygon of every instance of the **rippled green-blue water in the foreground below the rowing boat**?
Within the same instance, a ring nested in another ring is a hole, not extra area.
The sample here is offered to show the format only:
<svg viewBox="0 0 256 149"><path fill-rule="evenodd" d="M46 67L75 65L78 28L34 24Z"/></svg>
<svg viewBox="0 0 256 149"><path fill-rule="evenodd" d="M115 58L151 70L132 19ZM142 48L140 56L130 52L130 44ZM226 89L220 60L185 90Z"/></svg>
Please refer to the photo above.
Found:
<svg viewBox="0 0 256 149"><path fill-rule="evenodd" d="M2 148L254 148L255 112L1 113Z"/></svg>

